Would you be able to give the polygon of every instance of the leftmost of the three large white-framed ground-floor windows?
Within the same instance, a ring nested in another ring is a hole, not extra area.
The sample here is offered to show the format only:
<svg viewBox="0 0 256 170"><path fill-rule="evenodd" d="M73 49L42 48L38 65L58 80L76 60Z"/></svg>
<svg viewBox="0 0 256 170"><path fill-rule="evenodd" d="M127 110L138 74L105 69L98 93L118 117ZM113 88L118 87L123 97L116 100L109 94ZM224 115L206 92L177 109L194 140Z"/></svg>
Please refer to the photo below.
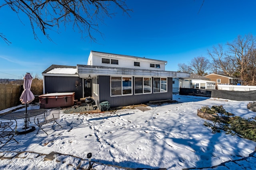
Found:
<svg viewBox="0 0 256 170"><path fill-rule="evenodd" d="M111 96L132 94L132 77L111 77Z"/></svg>

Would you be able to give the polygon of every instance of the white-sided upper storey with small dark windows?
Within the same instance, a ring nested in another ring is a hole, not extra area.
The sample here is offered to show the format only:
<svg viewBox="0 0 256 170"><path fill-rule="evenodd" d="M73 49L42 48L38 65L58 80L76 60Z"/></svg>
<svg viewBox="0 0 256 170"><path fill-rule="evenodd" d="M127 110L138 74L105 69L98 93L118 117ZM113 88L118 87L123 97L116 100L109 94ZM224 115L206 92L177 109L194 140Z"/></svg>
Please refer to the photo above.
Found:
<svg viewBox="0 0 256 170"><path fill-rule="evenodd" d="M109 66L121 68L134 68L146 70L165 70L167 61L146 59L128 55L118 55L111 53L102 53L91 51L88 57L87 65Z"/></svg>

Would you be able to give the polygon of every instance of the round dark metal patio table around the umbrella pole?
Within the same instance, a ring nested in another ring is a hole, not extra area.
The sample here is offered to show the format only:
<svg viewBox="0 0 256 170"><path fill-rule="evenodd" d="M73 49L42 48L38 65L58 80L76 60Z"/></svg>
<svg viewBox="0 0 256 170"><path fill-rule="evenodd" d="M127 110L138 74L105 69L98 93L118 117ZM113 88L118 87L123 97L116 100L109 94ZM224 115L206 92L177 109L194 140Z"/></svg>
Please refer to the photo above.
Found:
<svg viewBox="0 0 256 170"><path fill-rule="evenodd" d="M16 121L15 132L18 135L21 135L21 134L26 134L26 133L36 130L36 128L34 126L26 127L26 125L28 125L29 118L33 117L33 116L44 114L44 113L46 113L46 111L47 111L47 109L32 109L32 110L27 110L27 113L25 110L24 111L16 111L16 112L8 113L6 115L2 115L2 116L0 116L0 119L15 120L15 121L16 121L16 119L24 119L24 127L19 128L19 129L17 129L17 121Z"/></svg>

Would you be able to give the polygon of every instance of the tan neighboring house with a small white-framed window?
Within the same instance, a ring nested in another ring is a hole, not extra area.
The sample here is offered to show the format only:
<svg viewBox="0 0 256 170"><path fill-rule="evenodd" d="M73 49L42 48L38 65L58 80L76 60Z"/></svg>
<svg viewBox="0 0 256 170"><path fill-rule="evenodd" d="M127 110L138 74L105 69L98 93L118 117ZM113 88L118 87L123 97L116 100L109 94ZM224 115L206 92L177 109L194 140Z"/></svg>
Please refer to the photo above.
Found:
<svg viewBox="0 0 256 170"><path fill-rule="evenodd" d="M239 78L231 77L227 75L222 74L208 74L204 76L206 78L209 78L211 81L216 82L216 86L218 84L225 84L225 85L236 85L238 83Z"/></svg>

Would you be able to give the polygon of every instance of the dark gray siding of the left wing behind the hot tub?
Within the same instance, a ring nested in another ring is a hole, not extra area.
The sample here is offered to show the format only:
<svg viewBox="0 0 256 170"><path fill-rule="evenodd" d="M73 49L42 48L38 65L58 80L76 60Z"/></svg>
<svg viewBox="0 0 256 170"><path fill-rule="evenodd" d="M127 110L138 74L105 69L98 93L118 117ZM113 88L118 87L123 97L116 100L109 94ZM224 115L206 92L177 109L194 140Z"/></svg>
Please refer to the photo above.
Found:
<svg viewBox="0 0 256 170"><path fill-rule="evenodd" d="M81 83L81 86L76 88L76 81ZM75 92L75 99L80 100L83 97L83 80L79 77L64 77L64 76L44 76L44 91L45 93L60 93L60 92Z"/></svg>

